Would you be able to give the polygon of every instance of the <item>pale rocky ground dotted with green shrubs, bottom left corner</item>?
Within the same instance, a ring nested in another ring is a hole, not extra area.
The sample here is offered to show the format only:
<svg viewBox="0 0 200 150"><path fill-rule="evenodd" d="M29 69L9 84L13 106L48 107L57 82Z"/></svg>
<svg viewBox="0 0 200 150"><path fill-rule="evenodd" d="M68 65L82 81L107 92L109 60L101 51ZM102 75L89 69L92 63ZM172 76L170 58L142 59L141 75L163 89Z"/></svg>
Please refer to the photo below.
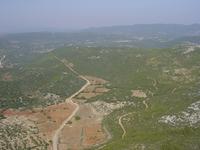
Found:
<svg viewBox="0 0 200 150"><path fill-rule="evenodd" d="M47 149L49 143L38 135L38 129L32 122L22 118L9 118L0 122L0 146L7 149Z"/></svg>

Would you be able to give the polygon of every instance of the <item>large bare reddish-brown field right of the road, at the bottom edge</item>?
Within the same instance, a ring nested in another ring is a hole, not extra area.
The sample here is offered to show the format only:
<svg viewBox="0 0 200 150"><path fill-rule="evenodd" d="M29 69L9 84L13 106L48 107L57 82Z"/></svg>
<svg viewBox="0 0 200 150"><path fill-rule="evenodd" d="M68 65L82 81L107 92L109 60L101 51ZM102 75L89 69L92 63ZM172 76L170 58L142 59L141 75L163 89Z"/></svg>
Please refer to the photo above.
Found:
<svg viewBox="0 0 200 150"><path fill-rule="evenodd" d="M80 120L73 118L72 123L63 128L59 137L59 150L90 148L107 139L102 128L103 116L95 113L91 105L81 105L76 116Z"/></svg>

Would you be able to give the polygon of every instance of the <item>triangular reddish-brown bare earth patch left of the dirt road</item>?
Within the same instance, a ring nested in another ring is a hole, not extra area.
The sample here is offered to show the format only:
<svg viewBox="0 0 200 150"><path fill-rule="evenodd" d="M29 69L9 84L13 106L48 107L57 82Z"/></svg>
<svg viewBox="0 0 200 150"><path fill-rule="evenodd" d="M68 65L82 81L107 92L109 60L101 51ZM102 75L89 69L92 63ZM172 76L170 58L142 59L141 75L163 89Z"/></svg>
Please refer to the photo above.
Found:
<svg viewBox="0 0 200 150"><path fill-rule="evenodd" d="M47 141L51 140L54 131L71 114L75 106L71 103L60 103L58 105L48 106L46 108L37 108L32 110L13 110L8 109L3 112L6 117L24 116L35 122L39 128L39 134Z"/></svg>

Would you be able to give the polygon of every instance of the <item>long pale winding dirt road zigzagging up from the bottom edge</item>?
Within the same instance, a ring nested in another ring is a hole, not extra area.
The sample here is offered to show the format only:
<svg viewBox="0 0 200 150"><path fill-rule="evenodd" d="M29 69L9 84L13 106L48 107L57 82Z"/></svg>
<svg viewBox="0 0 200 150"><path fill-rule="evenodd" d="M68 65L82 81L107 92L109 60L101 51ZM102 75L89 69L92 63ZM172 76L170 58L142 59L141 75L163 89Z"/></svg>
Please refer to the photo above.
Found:
<svg viewBox="0 0 200 150"><path fill-rule="evenodd" d="M73 73L75 73L76 75L78 75L79 78L81 78L82 80L85 80L85 81L86 81L85 85L83 85L82 88L81 88L80 90L78 90L76 93L74 93L74 94L71 95L70 97L66 98L66 100L65 100L66 103L72 103L72 104L76 105L76 108L75 108L75 110L72 112L72 114L71 114L69 117L67 117L67 118L63 121L63 123L60 125L60 127L55 131L55 134L54 134L54 136L53 136L53 138L52 138L53 150L58 150L58 139L59 139L59 134L60 134L61 130L64 128L65 124L66 124L68 121L70 121L70 120L74 117L74 115L77 113L77 111L79 110L79 105L78 105L77 103L74 103L72 99L73 99L75 96L77 96L79 93L81 93L83 90L85 90L85 88L86 88L87 86L89 86L91 83L90 83L90 81L89 81L87 78L85 78L84 76L81 76L81 75L80 75L78 72L76 72L72 67L70 67L69 65L67 65L66 63L64 63L64 62L63 62L62 60L60 60L58 57L55 56L55 58L56 58L58 61L60 61L61 63L63 63L63 64L64 64L68 69L70 69Z"/></svg>

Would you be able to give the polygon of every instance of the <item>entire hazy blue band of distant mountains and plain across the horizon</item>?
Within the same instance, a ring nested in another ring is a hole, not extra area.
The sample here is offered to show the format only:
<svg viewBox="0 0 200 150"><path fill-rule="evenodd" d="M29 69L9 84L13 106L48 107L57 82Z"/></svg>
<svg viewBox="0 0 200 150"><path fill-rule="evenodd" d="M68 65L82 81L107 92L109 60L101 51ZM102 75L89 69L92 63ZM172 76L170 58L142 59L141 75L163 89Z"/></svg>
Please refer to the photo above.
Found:
<svg viewBox="0 0 200 150"><path fill-rule="evenodd" d="M32 32L0 36L0 48L32 51L63 46L112 46L158 48L200 44L200 24L137 24L88 28L74 32ZM10 44L9 44L10 43Z"/></svg>

